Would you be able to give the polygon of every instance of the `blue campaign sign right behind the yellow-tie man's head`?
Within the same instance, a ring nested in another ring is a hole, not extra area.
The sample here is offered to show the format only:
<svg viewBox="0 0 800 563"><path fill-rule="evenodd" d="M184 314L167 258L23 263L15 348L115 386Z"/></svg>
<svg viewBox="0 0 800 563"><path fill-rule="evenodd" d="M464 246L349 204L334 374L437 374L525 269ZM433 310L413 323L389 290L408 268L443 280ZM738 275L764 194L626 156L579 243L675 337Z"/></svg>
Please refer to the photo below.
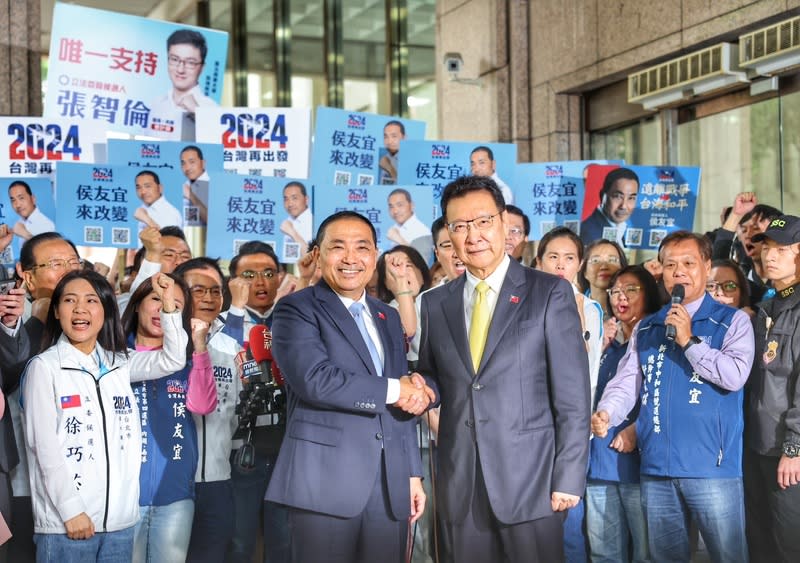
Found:
<svg viewBox="0 0 800 563"><path fill-rule="evenodd" d="M491 151L489 155L486 149ZM503 192L506 203L514 203L514 171L517 145L513 143L464 143L456 141L403 141L400 143L398 181L433 187L433 203L438 207L444 187L470 174L491 176ZM480 162L480 169L471 166ZM475 172L473 172L473 169ZM436 216L441 210L436 210Z"/></svg>

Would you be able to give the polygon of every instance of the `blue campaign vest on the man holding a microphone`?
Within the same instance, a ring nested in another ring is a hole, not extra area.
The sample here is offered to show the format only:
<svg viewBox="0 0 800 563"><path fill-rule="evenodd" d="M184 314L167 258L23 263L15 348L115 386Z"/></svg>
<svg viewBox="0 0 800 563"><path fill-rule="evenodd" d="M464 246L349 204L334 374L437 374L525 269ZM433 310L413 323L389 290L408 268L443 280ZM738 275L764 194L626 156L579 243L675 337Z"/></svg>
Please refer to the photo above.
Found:
<svg viewBox="0 0 800 563"><path fill-rule="evenodd" d="M726 391L701 379L675 342L666 338L670 307L641 321L637 334L642 368L637 436L643 475L734 478L742 476L743 391ZM692 317L692 334L719 350L736 309L706 294Z"/></svg>

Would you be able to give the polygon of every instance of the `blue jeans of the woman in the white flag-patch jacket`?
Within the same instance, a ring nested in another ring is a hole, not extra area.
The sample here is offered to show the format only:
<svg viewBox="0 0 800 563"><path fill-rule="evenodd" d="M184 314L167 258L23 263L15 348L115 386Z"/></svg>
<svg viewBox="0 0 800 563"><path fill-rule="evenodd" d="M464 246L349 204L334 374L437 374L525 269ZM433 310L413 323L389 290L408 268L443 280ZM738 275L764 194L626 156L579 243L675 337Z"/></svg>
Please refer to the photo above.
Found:
<svg viewBox="0 0 800 563"><path fill-rule="evenodd" d="M67 534L34 534L37 563L128 563L133 552L133 526L117 532L96 533L88 540Z"/></svg>

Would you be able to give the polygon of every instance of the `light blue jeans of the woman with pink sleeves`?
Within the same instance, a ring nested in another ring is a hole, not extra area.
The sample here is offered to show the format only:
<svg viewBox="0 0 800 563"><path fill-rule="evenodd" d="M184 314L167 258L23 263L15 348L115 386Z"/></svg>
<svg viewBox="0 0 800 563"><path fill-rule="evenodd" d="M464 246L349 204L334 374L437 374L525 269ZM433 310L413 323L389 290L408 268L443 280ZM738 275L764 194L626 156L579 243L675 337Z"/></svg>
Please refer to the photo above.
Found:
<svg viewBox="0 0 800 563"><path fill-rule="evenodd" d="M192 537L194 501L140 506L133 538L133 563L183 563Z"/></svg>

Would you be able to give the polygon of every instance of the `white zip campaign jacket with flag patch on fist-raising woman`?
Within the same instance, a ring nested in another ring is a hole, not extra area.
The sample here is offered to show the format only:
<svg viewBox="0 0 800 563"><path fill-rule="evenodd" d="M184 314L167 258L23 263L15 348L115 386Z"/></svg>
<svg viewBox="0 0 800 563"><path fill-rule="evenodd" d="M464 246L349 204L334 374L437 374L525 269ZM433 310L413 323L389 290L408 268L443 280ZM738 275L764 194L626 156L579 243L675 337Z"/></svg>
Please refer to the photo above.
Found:
<svg viewBox="0 0 800 563"><path fill-rule="evenodd" d="M37 533L66 533L82 512L97 532L136 524L141 427L130 384L186 363L181 314L162 313L161 326L161 350L126 359L98 344L86 355L62 335L28 363L21 400Z"/></svg>

